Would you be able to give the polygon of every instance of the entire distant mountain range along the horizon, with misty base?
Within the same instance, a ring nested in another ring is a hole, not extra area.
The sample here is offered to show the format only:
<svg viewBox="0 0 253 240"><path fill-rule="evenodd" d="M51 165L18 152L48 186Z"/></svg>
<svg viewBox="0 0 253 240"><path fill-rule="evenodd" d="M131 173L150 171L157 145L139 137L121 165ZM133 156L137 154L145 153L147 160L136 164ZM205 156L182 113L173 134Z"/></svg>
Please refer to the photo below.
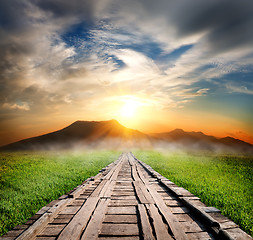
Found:
<svg viewBox="0 0 253 240"><path fill-rule="evenodd" d="M60 150L74 148L166 148L252 153L253 145L239 139L216 138L202 132L175 129L166 133L144 134L110 121L76 121L66 128L0 147L0 150Z"/></svg>

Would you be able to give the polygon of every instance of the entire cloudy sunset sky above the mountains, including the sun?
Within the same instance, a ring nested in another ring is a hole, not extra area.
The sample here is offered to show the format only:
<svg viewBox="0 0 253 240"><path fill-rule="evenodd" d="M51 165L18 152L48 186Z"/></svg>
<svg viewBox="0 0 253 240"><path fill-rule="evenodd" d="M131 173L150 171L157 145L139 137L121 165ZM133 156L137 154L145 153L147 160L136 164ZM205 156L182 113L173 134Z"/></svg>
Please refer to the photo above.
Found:
<svg viewBox="0 0 253 240"><path fill-rule="evenodd" d="M253 143L252 0L1 0L0 145L116 119Z"/></svg>

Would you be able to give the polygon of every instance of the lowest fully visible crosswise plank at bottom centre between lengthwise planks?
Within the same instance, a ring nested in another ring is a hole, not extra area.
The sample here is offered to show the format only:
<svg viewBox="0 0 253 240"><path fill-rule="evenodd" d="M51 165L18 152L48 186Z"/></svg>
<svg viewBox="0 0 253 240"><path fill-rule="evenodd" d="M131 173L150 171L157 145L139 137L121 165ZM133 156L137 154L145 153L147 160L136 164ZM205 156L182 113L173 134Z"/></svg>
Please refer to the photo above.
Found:
<svg viewBox="0 0 253 240"><path fill-rule="evenodd" d="M137 224L102 224L100 235L139 236L139 229Z"/></svg>

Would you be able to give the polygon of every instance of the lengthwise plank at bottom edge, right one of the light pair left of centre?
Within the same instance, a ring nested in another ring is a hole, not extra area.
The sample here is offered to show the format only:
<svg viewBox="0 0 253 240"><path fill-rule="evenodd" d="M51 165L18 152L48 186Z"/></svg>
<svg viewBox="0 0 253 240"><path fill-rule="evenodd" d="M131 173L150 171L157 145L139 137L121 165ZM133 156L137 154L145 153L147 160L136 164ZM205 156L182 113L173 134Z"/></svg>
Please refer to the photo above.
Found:
<svg viewBox="0 0 253 240"><path fill-rule="evenodd" d="M98 238L108 202L109 199L100 200L87 228L85 229L85 232L82 235L81 240L96 240Z"/></svg>

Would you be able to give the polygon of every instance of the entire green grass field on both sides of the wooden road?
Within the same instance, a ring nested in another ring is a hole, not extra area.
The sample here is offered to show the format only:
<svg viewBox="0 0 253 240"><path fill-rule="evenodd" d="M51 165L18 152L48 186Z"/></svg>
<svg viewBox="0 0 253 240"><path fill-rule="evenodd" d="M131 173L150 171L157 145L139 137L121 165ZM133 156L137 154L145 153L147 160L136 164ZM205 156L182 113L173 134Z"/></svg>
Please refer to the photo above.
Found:
<svg viewBox="0 0 253 240"><path fill-rule="evenodd" d="M0 236L116 160L119 152L0 153ZM253 157L135 151L253 235Z"/></svg>

